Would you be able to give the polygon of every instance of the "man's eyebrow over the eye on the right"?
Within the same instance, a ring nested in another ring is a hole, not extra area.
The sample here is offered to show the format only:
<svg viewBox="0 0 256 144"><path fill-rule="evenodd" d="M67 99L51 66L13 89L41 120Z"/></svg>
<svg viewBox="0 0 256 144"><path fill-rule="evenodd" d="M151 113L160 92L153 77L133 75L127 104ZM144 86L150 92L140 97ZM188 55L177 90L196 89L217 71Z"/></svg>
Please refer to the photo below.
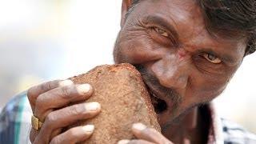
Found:
<svg viewBox="0 0 256 144"><path fill-rule="evenodd" d="M218 54L210 48L206 48L205 50L202 50L201 52L208 53L208 54L213 54L216 57L220 58L224 62L228 62L228 63L231 63L231 64L235 63L234 58L232 56L230 56L230 54Z"/></svg>

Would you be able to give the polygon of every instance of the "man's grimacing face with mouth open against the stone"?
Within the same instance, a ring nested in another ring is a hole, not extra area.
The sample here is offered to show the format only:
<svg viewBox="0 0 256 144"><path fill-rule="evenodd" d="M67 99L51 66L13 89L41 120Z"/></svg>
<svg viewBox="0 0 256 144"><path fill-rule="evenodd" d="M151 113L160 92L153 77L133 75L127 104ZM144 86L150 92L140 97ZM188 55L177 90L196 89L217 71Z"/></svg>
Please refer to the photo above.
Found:
<svg viewBox="0 0 256 144"><path fill-rule="evenodd" d="M212 37L194 0L143 0L122 22L114 60L138 68L160 125L167 126L217 97L241 64L245 49L244 39Z"/></svg>

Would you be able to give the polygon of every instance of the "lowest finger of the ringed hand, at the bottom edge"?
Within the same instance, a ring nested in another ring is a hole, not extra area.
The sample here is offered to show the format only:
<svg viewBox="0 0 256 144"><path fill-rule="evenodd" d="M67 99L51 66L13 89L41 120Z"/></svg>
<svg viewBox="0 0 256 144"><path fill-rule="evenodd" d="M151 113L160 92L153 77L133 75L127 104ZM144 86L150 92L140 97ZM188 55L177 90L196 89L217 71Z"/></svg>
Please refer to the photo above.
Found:
<svg viewBox="0 0 256 144"><path fill-rule="evenodd" d="M50 144L72 144L85 141L94 132L94 125L78 126L54 137Z"/></svg>

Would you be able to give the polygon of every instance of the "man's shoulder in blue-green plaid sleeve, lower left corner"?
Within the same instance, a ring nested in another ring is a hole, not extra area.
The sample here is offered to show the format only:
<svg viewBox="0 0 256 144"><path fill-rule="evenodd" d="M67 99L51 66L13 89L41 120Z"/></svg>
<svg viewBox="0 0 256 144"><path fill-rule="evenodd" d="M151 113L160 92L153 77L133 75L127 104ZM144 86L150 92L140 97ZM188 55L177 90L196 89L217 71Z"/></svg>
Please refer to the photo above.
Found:
<svg viewBox="0 0 256 144"><path fill-rule="evenodd" d="M0 143L30 143L31 114L26 92L12 98L0 114Z"/></svg>

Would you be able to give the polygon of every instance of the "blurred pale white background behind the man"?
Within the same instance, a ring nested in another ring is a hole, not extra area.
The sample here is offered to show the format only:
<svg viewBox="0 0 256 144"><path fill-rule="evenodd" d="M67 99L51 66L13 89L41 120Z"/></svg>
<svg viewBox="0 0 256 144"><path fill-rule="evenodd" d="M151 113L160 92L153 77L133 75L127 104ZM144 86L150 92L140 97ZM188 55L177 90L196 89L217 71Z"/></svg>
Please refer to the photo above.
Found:
<svg viewBox="0 0 256 144"><path fill-rule="evenodd" d="M0 110L38 83L113 63L121 0L0 0ZM214 102L218 114L256 133L256 54Z"/></svg>

